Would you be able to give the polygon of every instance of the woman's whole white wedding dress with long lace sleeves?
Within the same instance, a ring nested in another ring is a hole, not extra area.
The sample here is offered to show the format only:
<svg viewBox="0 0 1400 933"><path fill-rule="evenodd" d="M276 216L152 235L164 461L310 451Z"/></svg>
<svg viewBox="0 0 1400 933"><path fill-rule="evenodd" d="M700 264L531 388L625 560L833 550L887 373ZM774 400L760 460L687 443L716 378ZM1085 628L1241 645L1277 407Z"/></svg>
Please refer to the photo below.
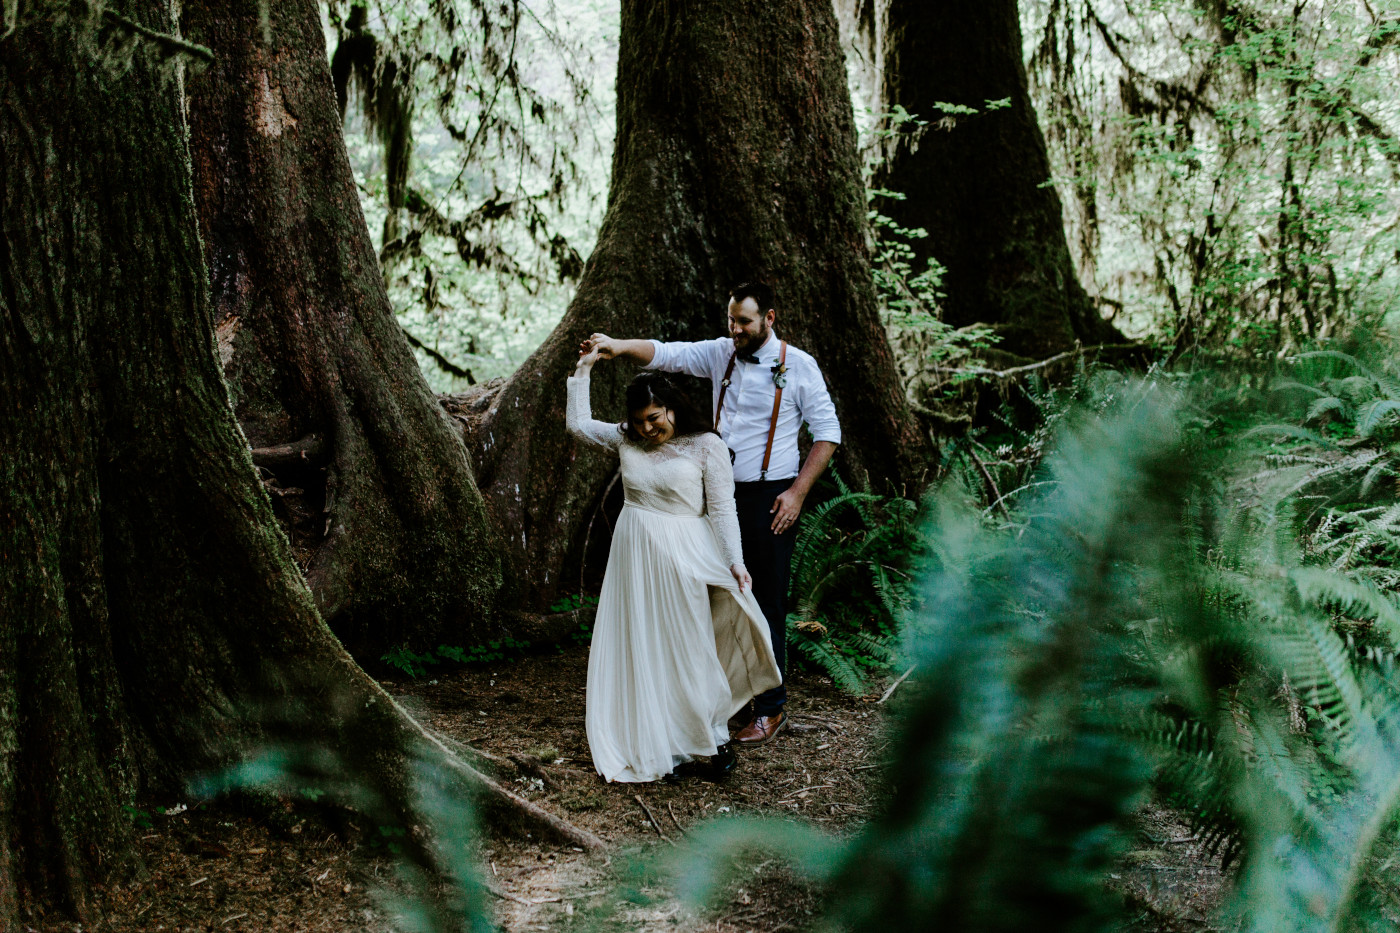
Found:
<svg viewBox="0 0 1400 933"><path fill-rule="evenodd" d="M742 563L729 451L715 434L651 447L592 420L568 380L568 431L617 450L626 504L588 656L588 747L608 780L657 780L729 741L728 719L783 677Z"/></svg>

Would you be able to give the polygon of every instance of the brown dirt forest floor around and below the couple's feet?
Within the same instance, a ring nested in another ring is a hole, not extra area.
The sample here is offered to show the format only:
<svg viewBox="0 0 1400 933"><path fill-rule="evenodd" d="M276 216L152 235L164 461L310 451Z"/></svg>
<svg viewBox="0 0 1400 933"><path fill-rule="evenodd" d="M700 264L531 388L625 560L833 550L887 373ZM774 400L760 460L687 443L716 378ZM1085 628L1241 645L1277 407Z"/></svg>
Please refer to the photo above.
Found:
<svg viewBox="0 0 1400 933"><path fill-rule="evenodd" d="M820 891L776 860L732 859L718 897L699 909L682 904L662 876L638 874L637 866L676 853L685 859L685 836L701 821L767 815L836 835L860 829L885 796L878 765L889 742L888 706L878 703L879 693L851 696L825 678L795 677L790 710L798 728L743 752L727 782L608 785L592 770L584 734L587 663L587 649L570 647L434 679L385 682L433 728L503 759L497 776L512 790L613 846L594 855L518 835L482 836L475 855L496 922L512 933L777 933L816 926ZM510 755L546 762L552 786L504 763ZM28 930L400 929L392 846L374 834L346 831L290 806L286 813L249 814L220 801L151 801L133 817L143 829L144 876L109 891L95 920L34 920ZM1112 883L1134 908L1134 929L1214 929L1208 918L1225 890L1218 860L1197 850L1173 814L1155 807L1140 814L1138 839L1141 848L1128 853Z"/></svg>

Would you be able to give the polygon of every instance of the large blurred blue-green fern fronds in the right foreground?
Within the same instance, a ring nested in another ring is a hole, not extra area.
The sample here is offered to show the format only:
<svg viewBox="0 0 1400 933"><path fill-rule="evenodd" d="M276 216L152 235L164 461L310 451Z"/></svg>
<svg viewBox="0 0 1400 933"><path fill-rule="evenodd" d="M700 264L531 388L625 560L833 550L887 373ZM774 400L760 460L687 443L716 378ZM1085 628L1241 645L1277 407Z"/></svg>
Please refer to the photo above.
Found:
<svg viewBox="0 0 1400 933"><path fill-rule="evenodd" d="M1259 481L1257 436L1208 420L1163 381L1109 380L1012 521L949 485L885 813L847 843L727 841L826 880L839 927L1116 930L1106 877L1156 793L1238 860L1221 923L1396 929L1400 609L1319 560L1315 502Z"/></svg>

